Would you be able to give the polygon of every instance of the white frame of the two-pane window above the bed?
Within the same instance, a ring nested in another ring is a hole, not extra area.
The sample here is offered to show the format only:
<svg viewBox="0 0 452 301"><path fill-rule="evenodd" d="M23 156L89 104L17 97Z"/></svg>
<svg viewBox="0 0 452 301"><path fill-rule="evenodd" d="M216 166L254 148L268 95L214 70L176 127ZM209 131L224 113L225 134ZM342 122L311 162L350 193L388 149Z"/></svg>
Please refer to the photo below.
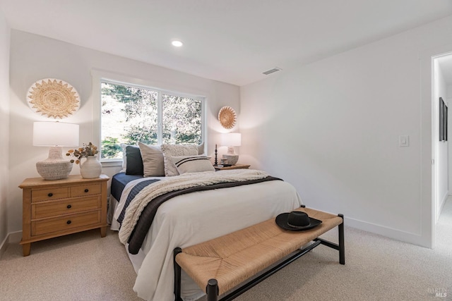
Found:
<svg viewBox="0 0 452 301"><path fill-rule="evenodd" d="M143 89L150 89L158 91L158 133L157 141L158 144L162 144L162 97L161 94L172 94L178 97L189 97L192 99L201 100L201 140L204 142L204 147L208 145L207 141L207 98L205 94L190 91L189 89L184 89L182 87L174 87L171 85L165 85L163 83L155 83L149 80L142 80L138 78L133 78L127 75L119 75L116 73L110 73L105 70L95 70L91 71L91 77L93 80L93 143L97 142L97 145L102 145L101 130L102 130L102 82L109 82L115 85L129 85L132 87L138 87ZM163 87L157 87L157 86ZM174 92L179 91L179 92ZM122 163L122 159L101 159L102 166L119 166Z"/></svg>

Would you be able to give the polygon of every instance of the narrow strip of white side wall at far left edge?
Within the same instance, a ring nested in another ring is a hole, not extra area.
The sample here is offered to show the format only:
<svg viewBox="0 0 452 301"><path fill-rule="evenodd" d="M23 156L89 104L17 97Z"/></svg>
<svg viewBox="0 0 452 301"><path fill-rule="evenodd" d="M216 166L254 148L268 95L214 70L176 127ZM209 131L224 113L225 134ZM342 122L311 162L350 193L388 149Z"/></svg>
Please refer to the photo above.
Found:
<svg viewBox="0 0 452 301"><path fill-rule="evenodd" d="M10 30L0 11L0 256L8 233L9 37Z"/></svg>

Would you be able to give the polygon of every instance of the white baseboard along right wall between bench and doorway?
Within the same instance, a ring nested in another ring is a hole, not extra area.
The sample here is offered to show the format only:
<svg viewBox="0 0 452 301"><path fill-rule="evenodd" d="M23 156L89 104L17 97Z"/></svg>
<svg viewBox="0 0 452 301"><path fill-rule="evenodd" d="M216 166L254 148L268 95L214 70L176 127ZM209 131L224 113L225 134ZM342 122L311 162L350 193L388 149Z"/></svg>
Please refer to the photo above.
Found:
<svg viewBox="0 0 452 301"><path fill-rule="evenodd" d="M358 219L347 218L347 216L345 216L345 226L350 226L362 231L383 235L393 240L408 242L412 245L420 245L421 247L428 247L429 249L432 248L432 245L429 242L425 242L420 233L400 231L398 229L381 226L376 223L368 223L366 221L360 221ZM345 235L347 235L347 233L345 233Z"/></svg>

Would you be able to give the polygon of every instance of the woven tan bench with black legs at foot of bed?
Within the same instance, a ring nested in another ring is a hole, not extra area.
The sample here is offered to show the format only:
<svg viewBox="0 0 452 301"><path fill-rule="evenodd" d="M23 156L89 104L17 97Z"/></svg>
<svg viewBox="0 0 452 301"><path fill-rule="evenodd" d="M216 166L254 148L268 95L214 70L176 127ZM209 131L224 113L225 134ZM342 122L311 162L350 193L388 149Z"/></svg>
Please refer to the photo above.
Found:
<svg viewBox="0 0 452 301"><path fill-rule="evenodd" d="M305 207L296 210L305 211L322 223L307 231L287 231L280 228L273 218L183 250L179 247L174 249L175 300L182 300L181 269L204 290L208 301L216 301L219 295L284 259L221 300L234 299L320 244L338 250L339 262L345 264L343 214L328 214ZM319 238L335 226L338 226L338 244ZM311 245L301 250L300 247L308 242Z"/></svg>

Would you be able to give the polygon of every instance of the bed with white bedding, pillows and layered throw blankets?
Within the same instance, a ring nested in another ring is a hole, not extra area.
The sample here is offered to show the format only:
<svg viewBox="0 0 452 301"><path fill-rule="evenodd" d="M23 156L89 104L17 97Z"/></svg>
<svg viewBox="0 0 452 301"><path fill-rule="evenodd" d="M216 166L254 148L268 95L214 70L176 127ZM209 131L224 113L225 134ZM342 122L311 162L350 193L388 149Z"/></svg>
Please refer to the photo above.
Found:
<svg viewBox="0 0 452 301"><path fill-rule="evenodd" d="M140 147L145 166L149 159L145 157L145 147L149 146ZM137 273L133 290L145 300L159 301L174 300L174 247L189 247L237 231L302 204L292 185L263 171L215 171L210 160L198 154L198 149L196 154L191 149L190 154L178 156L180 152L173 149L165 152L164 145L160 148L163 162L157 163L165 171L143 171L141 176L127 174L131 167L126 168L112 178L110 203L114 211L112 229L119 230L119 238ZM186 163L178 165L181 160ZM174 171L179 174L172 174ZM166 195L170 197L165 199ZM146 210L155 202L161 204L153 208L154 215L148 214ZM146 221L149 216L152 223ZM150 225L147 229L140 228L146 223ZM136 233L141 233L138 240ZM203 295L184 274L182 288L184 300L196 300Z"/></svg>

